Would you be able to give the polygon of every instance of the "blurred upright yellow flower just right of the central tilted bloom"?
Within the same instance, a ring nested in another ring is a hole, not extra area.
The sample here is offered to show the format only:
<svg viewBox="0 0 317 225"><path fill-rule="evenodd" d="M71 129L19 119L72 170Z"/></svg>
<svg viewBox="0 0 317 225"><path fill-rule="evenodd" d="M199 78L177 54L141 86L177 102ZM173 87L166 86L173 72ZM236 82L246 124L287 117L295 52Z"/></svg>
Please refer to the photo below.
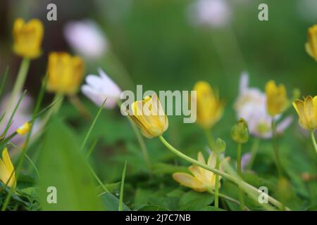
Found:
<svg viewBox="0 0 317 225"><path fill-rule="evenodd" d="M197 123L209 129L223 115L224 103L207 82L197 82L194 91L197 91Z"/></svg>

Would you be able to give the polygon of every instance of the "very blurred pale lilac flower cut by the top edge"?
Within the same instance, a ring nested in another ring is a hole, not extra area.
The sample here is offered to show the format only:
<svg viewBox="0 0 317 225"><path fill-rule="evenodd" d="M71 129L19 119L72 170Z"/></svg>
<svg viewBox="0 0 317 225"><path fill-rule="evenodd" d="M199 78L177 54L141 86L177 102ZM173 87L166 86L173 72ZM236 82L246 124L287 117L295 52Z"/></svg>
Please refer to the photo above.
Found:
<svg viewBox="0 0 317 225"><path fill-rule="evenodd" d="M226 0L197 0L189 10L190 18L197 25L223 27L231 18L231 9Z"/></svg>

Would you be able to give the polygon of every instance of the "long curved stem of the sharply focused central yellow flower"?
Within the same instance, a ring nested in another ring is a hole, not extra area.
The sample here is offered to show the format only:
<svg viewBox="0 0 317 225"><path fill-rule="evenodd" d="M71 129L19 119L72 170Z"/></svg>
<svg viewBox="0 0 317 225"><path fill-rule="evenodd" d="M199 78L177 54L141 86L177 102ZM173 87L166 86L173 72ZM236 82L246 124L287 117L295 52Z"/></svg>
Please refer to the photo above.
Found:
<svg viewBox="0 0 317 225"><path fill-rule="evenodd" d="M208 165L204 165L203 163L194 160L193 158L190 158L189 156L185 155L184 153L181 153L179 150L177 150L176 148L174 148L173 146L170 145L170 143L168 143L163 136L159 136L159 139L161 140L161 142L164 144L164 146L166 146L166 148L168 148L171 152L173 152L175 155L178 155L178 157L182 158L183 160L186 160L187 162L190 162L194 165L197 165L198 167L201 167L203 169L207 169L210 172L213 172L215 174L218 174L220 176L223 176L223 178L228 179L229 181L232 181L233 183L240 185L241 188L244 189L244 191L246 191L247 193L249 193L249 195L253 196L254 200L256 200L257 202L257 198L256 196L259 195L258 192L258 188L255 188L254 186L251 186L251 184L248 184L245 181L242 181L240 179L240 177L236 178L235 176L232 176L230 174L227 174L225 172L222 172L218 169L215 169L213 167L209 167ZM272 198L270 195L268 195L268 201L272 204L275 205L275 207L281 207L282 203L280 203L278 200L275 200L275 198ZM290 210L288 208L286 208L286 210Z"/></svg>

